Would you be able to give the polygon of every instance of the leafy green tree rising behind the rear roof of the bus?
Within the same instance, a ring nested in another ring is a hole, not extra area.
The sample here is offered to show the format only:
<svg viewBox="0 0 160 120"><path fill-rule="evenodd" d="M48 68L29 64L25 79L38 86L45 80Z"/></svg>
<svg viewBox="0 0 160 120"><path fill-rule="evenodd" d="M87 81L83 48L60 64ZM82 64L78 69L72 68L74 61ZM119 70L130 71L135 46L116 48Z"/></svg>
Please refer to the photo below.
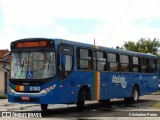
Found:
<svg viewBox="0 0 160 120"><path fill-rule="evenodd" d="M141 38L138 42L125 42L123 46L126 50L157 55L158 48L160 47L160 42L156 38L154 38L153 40L151 40L150 38Z"/></svg>

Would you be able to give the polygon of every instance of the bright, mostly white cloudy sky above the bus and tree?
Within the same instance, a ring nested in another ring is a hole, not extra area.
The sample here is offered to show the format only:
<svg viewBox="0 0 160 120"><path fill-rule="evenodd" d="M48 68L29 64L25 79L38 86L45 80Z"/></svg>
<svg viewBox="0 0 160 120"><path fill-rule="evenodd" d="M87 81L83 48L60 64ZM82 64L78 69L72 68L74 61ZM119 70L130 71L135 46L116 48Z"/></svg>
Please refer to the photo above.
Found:
<svg viewBox="0 0 160 120"><path fill-rule="evenodd" d="M22 38L104 47L160 38L160 0L0 0L0 49Z"/></svg>

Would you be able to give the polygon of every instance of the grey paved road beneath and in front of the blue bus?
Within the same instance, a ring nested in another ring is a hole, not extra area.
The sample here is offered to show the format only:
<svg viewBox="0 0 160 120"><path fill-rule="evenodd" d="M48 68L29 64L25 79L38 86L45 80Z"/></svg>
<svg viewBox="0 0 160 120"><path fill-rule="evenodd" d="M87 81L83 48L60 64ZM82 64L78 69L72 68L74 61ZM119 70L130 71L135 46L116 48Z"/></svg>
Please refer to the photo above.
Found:
<svg viewBox="0 0 160 120"><path fill-rule="evenodd" d="M136 104L126 105L123 100L112 100L110 102L111 106L106 106L103 103L98 103L96 101L87 102L84 111L77 111L75 105L49 105L47 111L41 111L39 105L25 105L19 106L19 104L5 106L8 109L7 111L19 111L22 113L38 113L42 116L42 119L127 119L127 117L132 119L141 120L144 118L147 119L159 119L160 118L160 109L155 109L152 106L160 102L160 95L145 95L140 97L140 100ZM14 107L13 107L14 106ZM17 107L16 107L17 106ZM158 112L157 112L158 111ZM147 115L144 117L144 115ZM159 116L159 118L157 116ZM148 117L150 116L150 117ZM5 119L5 118L4 118ZM25 118L23 118L25 119ZM31 118L34 119L34 118ZM30 120L31 120L30 119ZM17 119L16 119L17 120ZM146 119L145 119L146 120Z"/></svg>

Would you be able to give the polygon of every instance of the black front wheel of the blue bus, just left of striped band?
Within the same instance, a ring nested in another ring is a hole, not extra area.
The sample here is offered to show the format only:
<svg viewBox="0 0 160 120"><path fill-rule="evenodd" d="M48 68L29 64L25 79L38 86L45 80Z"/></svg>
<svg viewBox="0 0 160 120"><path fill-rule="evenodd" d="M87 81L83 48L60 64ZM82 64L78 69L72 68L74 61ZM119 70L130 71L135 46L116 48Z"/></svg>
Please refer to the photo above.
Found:
<svg viewBox="0 0 160 120"><path fill-rule="evenodd" d="M78 101L77 101L77 109L78 111L84 110L85 105L85 91L82 89L78 94Z"/></svg>

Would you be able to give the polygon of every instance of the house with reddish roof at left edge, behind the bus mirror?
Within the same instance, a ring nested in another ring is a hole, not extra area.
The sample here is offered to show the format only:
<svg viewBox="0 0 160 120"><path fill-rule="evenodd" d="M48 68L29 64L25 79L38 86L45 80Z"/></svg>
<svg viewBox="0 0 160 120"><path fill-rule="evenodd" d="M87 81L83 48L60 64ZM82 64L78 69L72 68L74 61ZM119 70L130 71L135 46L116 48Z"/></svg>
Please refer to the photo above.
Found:
<svg viewBox="0 0 160 120"><path fill-rule="evenodd" d="M4 82L5 73L3 71L3 57L8 52L9 52L8 49L0 50L0 94L5 93L5 82ZM8 56L6 59L7 59L6 67L10 68L10 56Z"/></svg>

